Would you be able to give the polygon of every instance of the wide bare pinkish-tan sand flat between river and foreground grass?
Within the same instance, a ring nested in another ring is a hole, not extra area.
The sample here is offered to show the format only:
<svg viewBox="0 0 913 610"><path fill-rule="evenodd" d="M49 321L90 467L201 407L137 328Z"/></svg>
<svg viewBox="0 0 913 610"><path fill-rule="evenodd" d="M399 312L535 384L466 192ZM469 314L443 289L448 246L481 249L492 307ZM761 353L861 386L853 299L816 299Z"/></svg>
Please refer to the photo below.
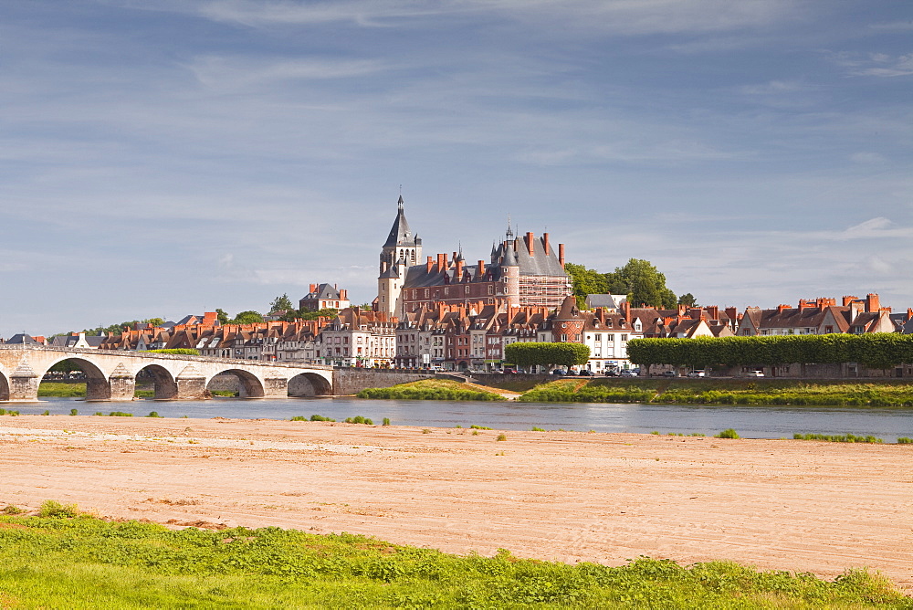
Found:
<svg viewBox="0 0 913 610"><path fill-rule="evenodd" d="M446 552L728 559L913 591L913 446L359 426L0 417L0 507L351 531Z"/></svg>

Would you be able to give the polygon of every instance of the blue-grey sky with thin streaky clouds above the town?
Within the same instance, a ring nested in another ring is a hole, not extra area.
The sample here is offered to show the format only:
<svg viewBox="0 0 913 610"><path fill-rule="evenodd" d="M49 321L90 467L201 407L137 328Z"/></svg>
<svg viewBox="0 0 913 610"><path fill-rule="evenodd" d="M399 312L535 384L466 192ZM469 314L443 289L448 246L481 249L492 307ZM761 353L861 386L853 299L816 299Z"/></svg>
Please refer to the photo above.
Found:
<svg viewBox="0 0 913 610"><path fill-rule="evenodd" d="M508 217L701 304L913 307L913 5L0 0L0 336L376 295Z"/></svg>

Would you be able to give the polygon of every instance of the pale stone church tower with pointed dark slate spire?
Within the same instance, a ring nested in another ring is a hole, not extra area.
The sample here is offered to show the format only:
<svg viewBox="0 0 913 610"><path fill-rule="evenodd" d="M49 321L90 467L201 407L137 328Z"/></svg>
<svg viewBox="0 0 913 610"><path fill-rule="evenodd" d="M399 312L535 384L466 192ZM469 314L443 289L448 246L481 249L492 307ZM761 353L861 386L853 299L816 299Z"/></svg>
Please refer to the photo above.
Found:
<svg viewBox="0 0 913 610"><path fill-rule="evenodd" d="M381 248L380 273L377 276L377 310L393 316L402 313L400 293L406 273L422 259L422 239L414 236L409 229L403 204L403 195L400 195L394 226Z"/></svg>

